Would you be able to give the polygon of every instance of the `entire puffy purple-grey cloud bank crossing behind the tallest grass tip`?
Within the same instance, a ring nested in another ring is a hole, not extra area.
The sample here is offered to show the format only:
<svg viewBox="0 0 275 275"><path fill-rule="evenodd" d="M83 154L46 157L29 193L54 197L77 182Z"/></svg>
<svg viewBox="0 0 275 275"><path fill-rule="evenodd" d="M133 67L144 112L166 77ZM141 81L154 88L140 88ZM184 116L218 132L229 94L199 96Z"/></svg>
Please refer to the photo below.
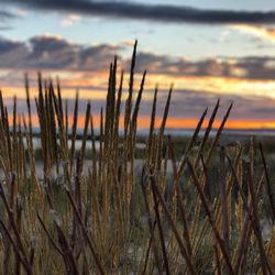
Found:
<svg viewBox="0 0 275 275"><path fill-rule="evenodd" d="M22 70L100 72L109 68L114 54L128 68L130 61L120 55L123 47L111 44L82 46L57 36L35 36L18 42L0 36L0 68ZM208 58L189 61L168 55L140 52L136 72L150 69L151 74L170 76L213 76L241 79L273 80L275 57Z"/></svg>

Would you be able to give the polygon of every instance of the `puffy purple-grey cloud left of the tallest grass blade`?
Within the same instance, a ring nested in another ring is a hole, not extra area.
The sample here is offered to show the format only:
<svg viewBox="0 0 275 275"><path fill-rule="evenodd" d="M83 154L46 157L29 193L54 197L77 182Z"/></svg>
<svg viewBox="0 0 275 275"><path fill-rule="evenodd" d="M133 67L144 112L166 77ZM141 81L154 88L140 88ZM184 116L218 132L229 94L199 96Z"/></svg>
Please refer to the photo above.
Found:
<svg viewBox="0 0 275 275"><path fill-rule="evenodd" d="M56 36L35 36L28 42L0 37L0 67L16 69L94 72L108 69L119 46L80 46Z"/></svg>

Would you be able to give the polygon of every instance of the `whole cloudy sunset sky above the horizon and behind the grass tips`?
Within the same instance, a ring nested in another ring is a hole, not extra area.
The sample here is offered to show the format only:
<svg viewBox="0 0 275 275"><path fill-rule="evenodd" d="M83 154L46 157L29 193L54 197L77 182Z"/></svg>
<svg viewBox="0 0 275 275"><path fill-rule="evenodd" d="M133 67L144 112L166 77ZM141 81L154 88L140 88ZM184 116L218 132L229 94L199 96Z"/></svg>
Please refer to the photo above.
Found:
<svg viewBox="0 0 275 275"><path fill-rule="evenodd" d="M0 89L24 112L24 74L61 79L73 108L103 107L114 55L129 72L138 40L136 87L147 70L141 125L147 127L155 86L161 118L174 84L169 128L194 128L220 99L233 102L228 128L275 128L274 0L0 0ZM127 75L128 77L128 75ZM128 81L124 81L127 91ZM125 95L124 95L125 98Z"/></svg>

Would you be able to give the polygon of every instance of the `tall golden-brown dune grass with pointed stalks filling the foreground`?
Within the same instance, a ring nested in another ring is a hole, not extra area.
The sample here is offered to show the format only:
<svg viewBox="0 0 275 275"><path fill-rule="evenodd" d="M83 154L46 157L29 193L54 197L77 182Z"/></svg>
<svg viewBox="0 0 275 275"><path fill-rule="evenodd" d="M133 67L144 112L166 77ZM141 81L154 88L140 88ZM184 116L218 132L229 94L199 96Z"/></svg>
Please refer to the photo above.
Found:
<svg viewBox="0 0 275 275"><path fill-rule="evenodd" d="M136 176L146 72L134 97L135 56L136 43L127 91L117 59L110 65L99 136L87 103L80 150L76 148L78 95L69 125L59 84L38 76L35 105L42 160L37 160L28 77L23 116L16 112L16 99L9 114L0 94L0 273L273 274L274 187L263 146L251 139L246 154L238 142L219 143L232 106L215 138L210 132L220 102L199 138L206 110L178 160L173 138L165 134L173 87L160 128L155 125L156 89L142 173ZM43 163L42 177L37 162ZM218 177L211 176L212 170ZM262 233L263 220L271 224L267 238Z"/></svg>

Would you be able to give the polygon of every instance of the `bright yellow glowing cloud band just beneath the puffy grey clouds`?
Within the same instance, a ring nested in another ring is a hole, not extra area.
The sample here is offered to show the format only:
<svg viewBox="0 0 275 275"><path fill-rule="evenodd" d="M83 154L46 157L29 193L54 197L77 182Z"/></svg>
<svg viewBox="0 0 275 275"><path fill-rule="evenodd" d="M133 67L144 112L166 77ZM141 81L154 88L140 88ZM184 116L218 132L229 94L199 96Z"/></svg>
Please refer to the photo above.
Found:
<svg viewBox="0 0 275 275"><path fill-rule="evenodd" d="M105 75L107 76L107 74ZM124 91L128 89L128 75L124 80ZM135 91L139 90L140 76L136 76ZM63 88L65 98L74 98L75 90L79 89L80 97L87 99L105 99L107 91L107 81L101 75L92 74L92 77L82 78L80 74L69 74L62 78L62 84L66 84ZM170 84L175 84L175 90L193 90L198 92L210 92L217 95L232 95L232 96L261 96L275 99L275 80L257 80L257 79L242 79L232 77L201 77L201 76L169 76L169 75L153 75L151 74L145 82L146 89L154 89L158 84L162 89L169 89ZM63 85L62 85L63 86ZM23 88L18 87L2 87L6 97L16 96L19 98L25 97ZM31 96L37 96L37 89L31 89ZM125 96L125 95L124 95ZM151 99L150 95L144 96Z"/></svg>

